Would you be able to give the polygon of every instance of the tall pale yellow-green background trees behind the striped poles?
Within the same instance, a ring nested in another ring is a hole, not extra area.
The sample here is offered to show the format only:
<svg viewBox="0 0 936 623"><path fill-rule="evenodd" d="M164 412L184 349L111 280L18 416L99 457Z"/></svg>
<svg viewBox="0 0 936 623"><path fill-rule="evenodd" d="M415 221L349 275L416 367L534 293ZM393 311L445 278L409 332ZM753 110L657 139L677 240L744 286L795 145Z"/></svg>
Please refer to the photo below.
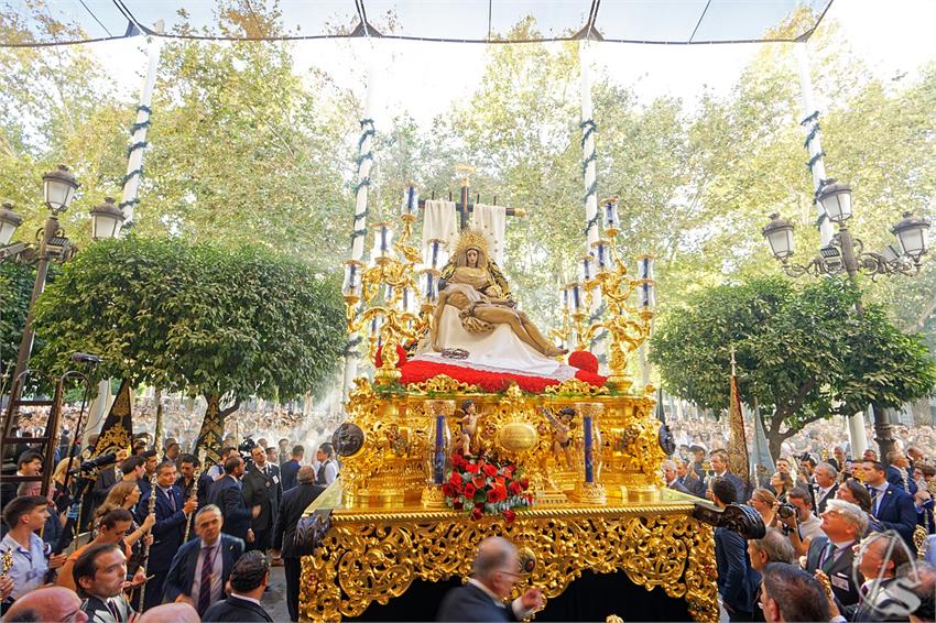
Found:
<svg viewBox="0 0 936 623"><path fill-rule="evenodd" d="M218 10L224 29L266 24L264 11L275 11L274 3L246 15L239 6ZM785 28L802 19L792 15ZM381 29L394 28L388 20ZM17 28L0 15L0 29ZM523 19L512 35L537 28ZM936 63L912 78L882 79L838 28L824 20L809 42L825 162L853 188L852 231L867 249L880 249L904 209L936 217ZM328 67L301 69L296 50L282 42L164 45L140 234L255 244L323 273L340 270L363 80L338 87ZM351 64L367 65L362 46L347 50ZM374 120L370 222L396 214L406 183L445 195L457 187L456 163L477 165L472 188L483 200L496 195L527 211L509 219L504 269L524 309L554 327L557 285L573 278L585 251L579 48L503 45L487 54L480 79L461 85L468 92L431 125L405 114ZM120 195L135 89L118 89L86 46L2 48L0 84L0 194L26 217L18 237L41 226L40 178L64 162L84 186L63 225L86 247L87 211L104 195ZM631 263L638 253L657 256L662 312L721 283L776 274L760 236L773 211L797 226L794 260L818 247L798 90L791 44L760 46L729 92L706 91L698 101L643 101L638 85L592 73L599 195L621 197L622 255ZM932 259L917 277L869 283L866 294L897 327L936 345Z"/></svg>

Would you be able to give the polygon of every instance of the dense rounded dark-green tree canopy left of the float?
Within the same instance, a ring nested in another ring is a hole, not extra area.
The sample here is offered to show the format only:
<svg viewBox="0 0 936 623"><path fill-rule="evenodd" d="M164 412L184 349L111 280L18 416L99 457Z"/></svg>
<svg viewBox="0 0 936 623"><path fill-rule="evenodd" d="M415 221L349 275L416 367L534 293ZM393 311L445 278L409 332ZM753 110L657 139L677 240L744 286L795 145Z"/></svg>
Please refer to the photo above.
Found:
<svg viewBox="0 0 936 623"><path fill-rule="evenodd" d="M104 378L168 391L291 400L335 370L344 347L338 284L250 245L135 236L98 242L36 304L37 364L99 354Z"/></svg>

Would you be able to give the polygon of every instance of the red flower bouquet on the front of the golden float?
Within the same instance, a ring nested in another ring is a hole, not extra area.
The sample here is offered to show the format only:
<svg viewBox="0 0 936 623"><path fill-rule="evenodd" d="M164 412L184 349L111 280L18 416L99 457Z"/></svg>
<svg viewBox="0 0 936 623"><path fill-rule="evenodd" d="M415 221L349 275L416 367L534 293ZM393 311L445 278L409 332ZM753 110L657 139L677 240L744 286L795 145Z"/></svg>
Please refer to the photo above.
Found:
<svg viewBox="0 0 936 623"><path fill-rule="evenodd" d="M446 504L465 511L472 520L486 513L502 514L507 523L516 518L513 509L529 506L533 495L526 493L530 481L523 478L516 464L498 462L489 457L451 456L451 472L442 485Z"/></svg>

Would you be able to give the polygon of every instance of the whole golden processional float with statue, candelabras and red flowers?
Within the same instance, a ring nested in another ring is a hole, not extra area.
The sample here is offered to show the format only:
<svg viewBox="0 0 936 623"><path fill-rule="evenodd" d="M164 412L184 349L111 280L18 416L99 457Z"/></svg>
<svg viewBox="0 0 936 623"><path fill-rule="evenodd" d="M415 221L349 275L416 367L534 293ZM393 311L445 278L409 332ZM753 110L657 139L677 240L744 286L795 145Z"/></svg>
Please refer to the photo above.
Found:
<svg viewBox="0 0 936 623"><path fill-rule="evenodd" d="M663 487L672 435L654 387L627 372L650 332L652 259L634 277L618 256L616 200L562 294L552 337L575 347L567 358L515 309L482 232L462 230L444 262L442 240L411 244L416 209L410 187L399 240L377 223L370 265L345 262L348 330L367 334L376 371L355 380L335 434L340 477L300 524L302 615L433 620L477 544L501 535L521 553L518 594L547 598L538 620L717 621L706 522L751 518ZM590 316L598 297L603 314ZM602 329L607 378L586 350Z"/></svg>

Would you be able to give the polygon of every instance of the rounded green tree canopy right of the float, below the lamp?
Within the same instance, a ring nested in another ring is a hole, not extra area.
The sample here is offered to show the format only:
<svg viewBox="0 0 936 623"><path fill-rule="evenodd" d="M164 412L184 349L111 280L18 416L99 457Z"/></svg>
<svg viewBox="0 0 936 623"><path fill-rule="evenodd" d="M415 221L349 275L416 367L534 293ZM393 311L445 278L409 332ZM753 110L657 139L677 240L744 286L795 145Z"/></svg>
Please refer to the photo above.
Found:
<svg viewBox="0 0 936 623"><path fill-rule="evenodd" d="M844 277L717 286L660 320L651 359L666 390L720 411L733 348L741 400L760 405L779 456L781 442L810 422L867 404L896 407L936 385L922 338L897 329L879 305L859 314L860 295Z"/></svg>

